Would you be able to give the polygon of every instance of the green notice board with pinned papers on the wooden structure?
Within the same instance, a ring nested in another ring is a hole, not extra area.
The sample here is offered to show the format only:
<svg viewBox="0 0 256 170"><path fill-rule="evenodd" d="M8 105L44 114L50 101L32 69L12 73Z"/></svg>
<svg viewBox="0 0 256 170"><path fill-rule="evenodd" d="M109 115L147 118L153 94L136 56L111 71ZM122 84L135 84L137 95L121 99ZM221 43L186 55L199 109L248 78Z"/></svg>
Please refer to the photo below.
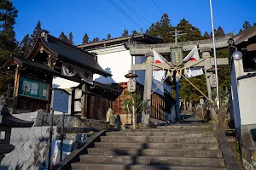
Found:
<svg viewBox="0 0 256 170"><path fill-rule="evenodd" d="M19 95L36 99L48 99L49 84L32 78L20 77Z"/></svg>

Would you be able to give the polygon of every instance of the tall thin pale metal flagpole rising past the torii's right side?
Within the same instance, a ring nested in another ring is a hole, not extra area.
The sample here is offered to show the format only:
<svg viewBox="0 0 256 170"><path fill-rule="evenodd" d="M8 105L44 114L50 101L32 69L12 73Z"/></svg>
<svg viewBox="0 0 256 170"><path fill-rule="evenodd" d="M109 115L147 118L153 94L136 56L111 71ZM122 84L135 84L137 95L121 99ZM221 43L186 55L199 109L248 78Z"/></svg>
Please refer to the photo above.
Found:
<svg viewBox="0 0 256 170"><path fill-rule="evenodd" d="M212 14L212 0L210 0L211 20L212 20L212 42L213 42L213 56L215 66L215 77L216 77L216 93L217 93L217 107L219 109L219 96L218 96L218 71L217 71L217 58L216 58L216 47L215 47L215 35L213 25L213 14Z"/></svg>

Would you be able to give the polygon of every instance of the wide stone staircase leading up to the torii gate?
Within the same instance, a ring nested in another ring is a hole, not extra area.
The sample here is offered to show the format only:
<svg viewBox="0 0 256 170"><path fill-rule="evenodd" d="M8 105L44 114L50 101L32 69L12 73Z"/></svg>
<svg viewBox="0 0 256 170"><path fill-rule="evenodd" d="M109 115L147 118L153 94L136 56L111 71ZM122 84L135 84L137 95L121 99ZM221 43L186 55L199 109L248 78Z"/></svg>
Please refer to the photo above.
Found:
<svg viewBox="0 0 256 170"><path fill-rule="evenodd" d="M73 170L225 170L217 133L206 125L108 132Z"/></svg>

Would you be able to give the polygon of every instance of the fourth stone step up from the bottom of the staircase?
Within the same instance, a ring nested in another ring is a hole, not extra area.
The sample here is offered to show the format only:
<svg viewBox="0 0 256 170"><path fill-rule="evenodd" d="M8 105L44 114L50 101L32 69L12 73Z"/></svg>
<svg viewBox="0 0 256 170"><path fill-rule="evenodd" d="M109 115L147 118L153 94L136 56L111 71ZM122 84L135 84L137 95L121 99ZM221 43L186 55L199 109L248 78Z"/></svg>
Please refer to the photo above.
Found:
<svg viewBox="0 0 256 170"><path fill-rule="evenodd" d="M158 149L158 150L219 150L219 144L177 144L177 143L103 143L96 142L96 148L108 149Z"/></svg>

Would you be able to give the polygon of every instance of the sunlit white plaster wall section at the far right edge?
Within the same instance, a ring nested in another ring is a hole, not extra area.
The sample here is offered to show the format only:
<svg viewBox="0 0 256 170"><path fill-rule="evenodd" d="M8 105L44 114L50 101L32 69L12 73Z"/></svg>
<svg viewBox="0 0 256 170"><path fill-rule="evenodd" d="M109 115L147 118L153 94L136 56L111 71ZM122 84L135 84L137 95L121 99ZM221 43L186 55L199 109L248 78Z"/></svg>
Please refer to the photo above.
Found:
<svg viewBox="0 0 256 170"><path fill-rule="evenodd" d="M241 125L256 124L256 77L238 80L239 108Z"/></svg>

